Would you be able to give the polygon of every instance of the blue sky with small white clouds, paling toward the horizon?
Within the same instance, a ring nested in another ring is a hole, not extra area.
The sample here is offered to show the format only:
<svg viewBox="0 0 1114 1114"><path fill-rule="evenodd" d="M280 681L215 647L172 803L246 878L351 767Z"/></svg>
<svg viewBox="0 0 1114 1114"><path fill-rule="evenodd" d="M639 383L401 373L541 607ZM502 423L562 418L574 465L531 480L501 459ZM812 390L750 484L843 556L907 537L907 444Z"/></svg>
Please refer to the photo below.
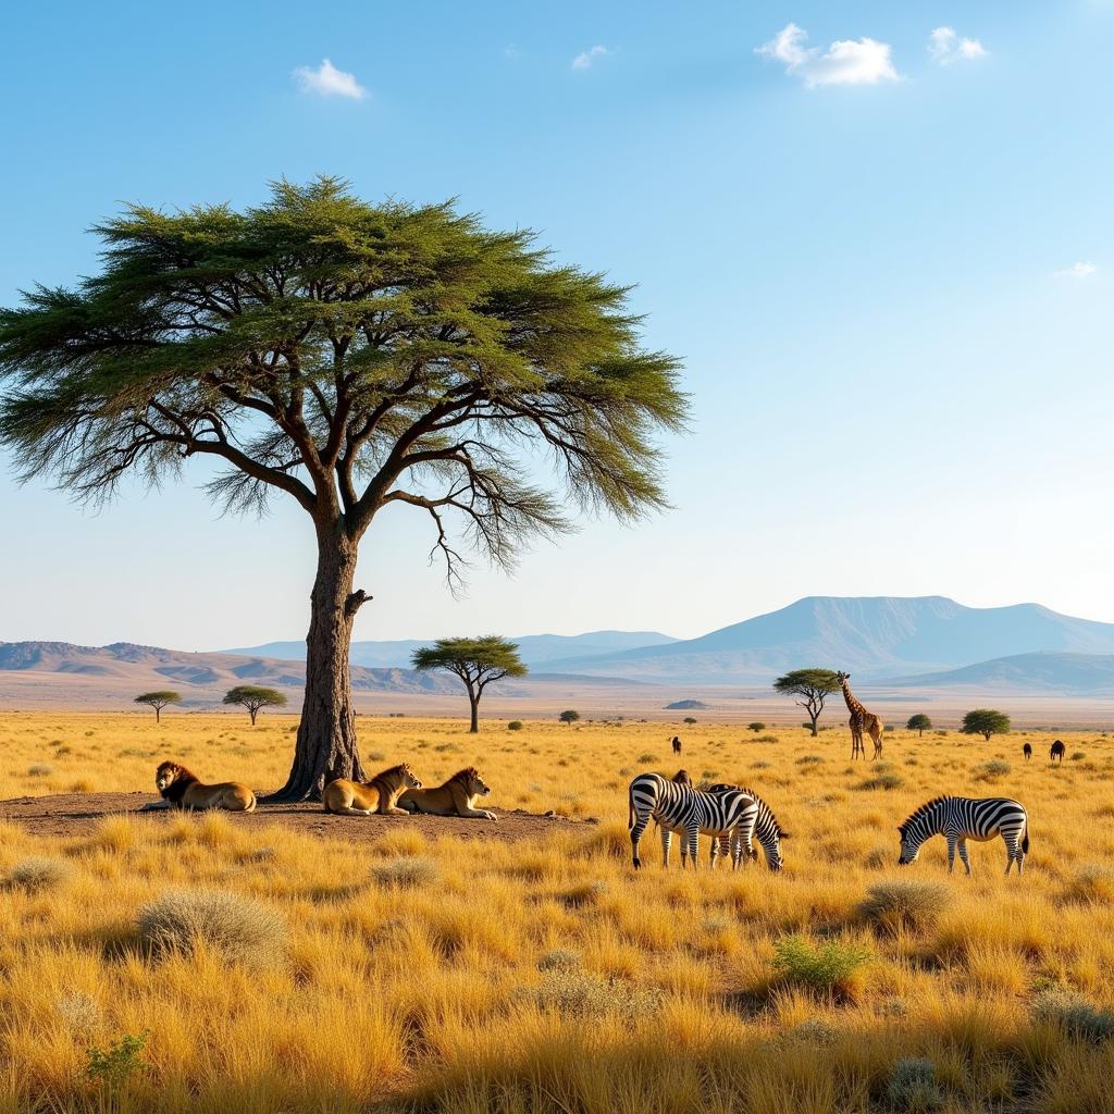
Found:
<svg viewBox="0 0 1114 1114"><path fill-rule="evenodd" d="M1114 622L1114 0L19 4L0 304L97 267L125 202L328 173L459 198L635 285L684 361L671 510L586 519L453 598L391 508L356 638L703 634L805 595ZM0 449L0 641L304 635L297 508L201 472L92 511Z"/></svg>

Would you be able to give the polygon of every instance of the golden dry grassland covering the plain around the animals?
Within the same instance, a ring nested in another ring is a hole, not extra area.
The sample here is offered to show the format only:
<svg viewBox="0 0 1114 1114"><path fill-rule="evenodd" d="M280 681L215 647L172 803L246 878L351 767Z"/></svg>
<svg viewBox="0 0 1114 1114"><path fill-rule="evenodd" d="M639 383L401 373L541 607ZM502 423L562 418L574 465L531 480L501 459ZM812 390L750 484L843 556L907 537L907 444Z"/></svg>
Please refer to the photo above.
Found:
<svg viewBox="0 0 1114 1114"><path fill-rule="evenodd" d="M275 785L294 726L3 714L0 798L149 790L163 758ZM0 824L0 1111L1114 1111L1114 739L1063 735L1052 769L1045 735L1025 764L1018 733L897 732L879 771L849 761L846 727L701 723L683 764L765 798L786 869L663 872L648 833L636 874L626 786L676 769L671 725L359 727L369 768L410 761L428 784L475 763L485 803L599 822L478 843L403 820L360 848L234 815L51 840ZM939 839L897 868L896 824L941 792L1026 804L1023 878L1000 841L971 844L969 879ZM942 887L924 917L866 916L871 887L909 880ZM194 889L267 921L251 948L140 938L141 907ZM868 958L817 989L775 968L794 936Z"/></svg>

